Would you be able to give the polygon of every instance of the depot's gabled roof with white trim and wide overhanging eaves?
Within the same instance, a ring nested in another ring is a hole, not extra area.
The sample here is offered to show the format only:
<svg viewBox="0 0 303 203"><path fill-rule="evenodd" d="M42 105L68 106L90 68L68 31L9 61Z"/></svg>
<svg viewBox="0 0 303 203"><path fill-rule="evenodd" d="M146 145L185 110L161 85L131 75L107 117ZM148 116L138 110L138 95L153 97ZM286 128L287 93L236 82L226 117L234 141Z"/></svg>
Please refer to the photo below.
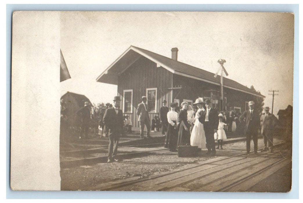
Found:
<svg viewBox="0 0 303 203"><path fill-rule="evenodd" d="M215 85L220 85L220 77L215 78L214 73L205 71L201 68L196 68L194 66L179 61L175 61L171 58L135 46L130 46L119 58L117 58L115 62L113 62L112 65L110 65L96 79L97 82L106 82L117 85L118 74L124 72L130 65L132 65L133 62L135 62L141 56L150 59L151 61L157 63L158 65L161 65L161 67L167 69L168 71L174 74L183 75L185 77L194 78ZM224 78L223 86L225 88L230 88L265 98L265 96L261 95L260 93L254 92L252 89L228 78Z"/></svg>

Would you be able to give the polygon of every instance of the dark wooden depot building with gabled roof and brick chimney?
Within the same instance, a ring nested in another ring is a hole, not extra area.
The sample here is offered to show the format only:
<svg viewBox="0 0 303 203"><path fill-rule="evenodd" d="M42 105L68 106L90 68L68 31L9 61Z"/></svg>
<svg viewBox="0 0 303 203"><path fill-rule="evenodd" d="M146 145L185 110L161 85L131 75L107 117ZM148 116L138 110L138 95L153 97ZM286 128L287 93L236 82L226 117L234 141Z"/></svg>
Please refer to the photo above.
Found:
<svg viewBox="0 0 303 203"><path fill-rule="evenodd" d="M209 98L212 108L221 110L220 77L214 73L179 62L178 48L171 49L171 58L130 46L101 75L97 82L118 85L120 108L129 115L134 129L139 129L137 106L141 97L148 98L150 120L159 112L162 101L187 101L190 105L198 97ZM248 101L265 96L228 78L224 78L224 107L242 112L248 109Z"/></svg>

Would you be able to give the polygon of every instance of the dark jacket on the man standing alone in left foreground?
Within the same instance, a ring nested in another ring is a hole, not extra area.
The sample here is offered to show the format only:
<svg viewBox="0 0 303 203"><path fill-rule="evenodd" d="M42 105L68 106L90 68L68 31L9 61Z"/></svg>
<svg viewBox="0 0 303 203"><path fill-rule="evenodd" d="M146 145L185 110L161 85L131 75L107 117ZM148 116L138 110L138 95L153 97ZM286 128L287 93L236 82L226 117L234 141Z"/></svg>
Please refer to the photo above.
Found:
<svg viewBox="0 0 303 203"><path fill-rule="evenodd" d="M108 130L115 132L117 134L121 134L123 132L123 113L122 110L118 110L118 114L116 114L115 108L108 108L106 109L104 116L103 116L103 123L105 125L105 133Z"/></svg>

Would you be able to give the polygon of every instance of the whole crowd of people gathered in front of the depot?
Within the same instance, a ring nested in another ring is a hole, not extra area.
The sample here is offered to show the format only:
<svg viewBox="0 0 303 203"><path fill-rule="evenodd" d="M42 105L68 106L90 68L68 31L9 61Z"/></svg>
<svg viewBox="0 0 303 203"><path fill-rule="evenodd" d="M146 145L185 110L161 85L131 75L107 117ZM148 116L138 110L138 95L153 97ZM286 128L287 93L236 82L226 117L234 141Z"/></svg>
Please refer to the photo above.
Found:
<svg viewBox="0 0 303 203"><path fill-rule="evenodd" d="M115 156L118 149L120 136L132 132L132 122L128 115L123 115L120 107L120 97L115 96L114 106L106 104L106 108L101 111L101 121L99 123L104 133L109 137L108 162L118 161ZM142 102L138 105L136 114L140 122L140 137L144 137L146 126L147 138L151 137L150 130L160 131L165 136L164 147L170 151L178 151L179 146L198 146L199 149L207 149L207 155L216 155L216 149L223 149L223 141L227 139L225 131L244 133L246 135L246 150L250 153L251 137L254 142L254 153L258 154L258 133L263 135L264 149L262 151L273 151L273 135L278 125L278 119L269 113L269 107L265 107L264 114L259 114L255 110L254 101L249 101L247 111L241 115L232 109L230 111L220 111L211 108L209 99L197 98L191 106L188 102L181 103L181 109L176 103L171 103L169 108L164 100L160 108L159 116L156 115L150 126L148 104L146 96L142 97ZM82 118L81 136L88 135L88 122L90 115L90 105L85 102L77 114ZM62 105L61 115L64 121L65 108ZM126 129L126 130L125 130ZM102 136L102 135L101 135ZM218 146L215 146L217 140ZM268 146L268 147L267 147Z"/></svg>

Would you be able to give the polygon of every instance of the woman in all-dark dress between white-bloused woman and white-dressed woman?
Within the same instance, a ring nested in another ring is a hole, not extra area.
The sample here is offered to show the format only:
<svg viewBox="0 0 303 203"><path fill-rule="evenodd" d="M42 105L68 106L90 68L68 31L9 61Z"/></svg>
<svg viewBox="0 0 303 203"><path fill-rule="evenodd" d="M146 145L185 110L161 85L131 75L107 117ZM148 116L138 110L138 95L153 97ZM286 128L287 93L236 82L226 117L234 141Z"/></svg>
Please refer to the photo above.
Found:
<svg viewBox="0 0 303 203"><path fill-rule="evenodd" d="M178 113L179 136L177 141L177 149L178 146L184 146L186 144L190 144L190 134L189 134L190 125L187 122L188 103L186 101L182 102L181 107L182 109Z"/></svg>

